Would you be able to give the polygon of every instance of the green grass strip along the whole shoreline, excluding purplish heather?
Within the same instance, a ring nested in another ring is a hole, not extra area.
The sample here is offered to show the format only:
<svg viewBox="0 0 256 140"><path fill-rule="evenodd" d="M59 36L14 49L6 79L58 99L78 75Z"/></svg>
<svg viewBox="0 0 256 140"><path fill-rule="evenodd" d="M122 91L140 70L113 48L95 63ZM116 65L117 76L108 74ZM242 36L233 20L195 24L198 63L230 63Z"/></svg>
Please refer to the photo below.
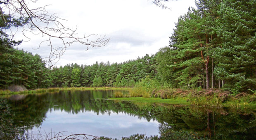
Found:
<svg viewBox="0 0 256 140"><path fill-rule="evenodd" d="M150 97L149 94L142 94L141 89L137 89L136 92L130 87L68 87L68 88L48 88L48 89L36 89L36 90L25 90L22 92L11 92L9 90L0 90L0 94L8 95L8 94L39 94L44 92L58 92L59 90L115 90L114 97L110 98L111 100L116 101L131 101L133 103L168 103L168 104L180 104L180 105L192 105L192 106L203 106L203 107L250 107L256 108L256 96L246 95L242 97L235 97L233 95L228 95L228 99L226 101L221 101L221 99L217 96L218 94L214 94L212 96L204 96L204 92L202 94L197 95L197 93L190 94L186 93L186 91L179 89L172 90L159 90L155 92ZM176 91L177 90L177 91ZM123 94L120 91L129 91L129 94ZM140 93L140 94L138 94ZM157 95L157 96L156 96ZM167 98L167 99L166 99Z"/></svg>

